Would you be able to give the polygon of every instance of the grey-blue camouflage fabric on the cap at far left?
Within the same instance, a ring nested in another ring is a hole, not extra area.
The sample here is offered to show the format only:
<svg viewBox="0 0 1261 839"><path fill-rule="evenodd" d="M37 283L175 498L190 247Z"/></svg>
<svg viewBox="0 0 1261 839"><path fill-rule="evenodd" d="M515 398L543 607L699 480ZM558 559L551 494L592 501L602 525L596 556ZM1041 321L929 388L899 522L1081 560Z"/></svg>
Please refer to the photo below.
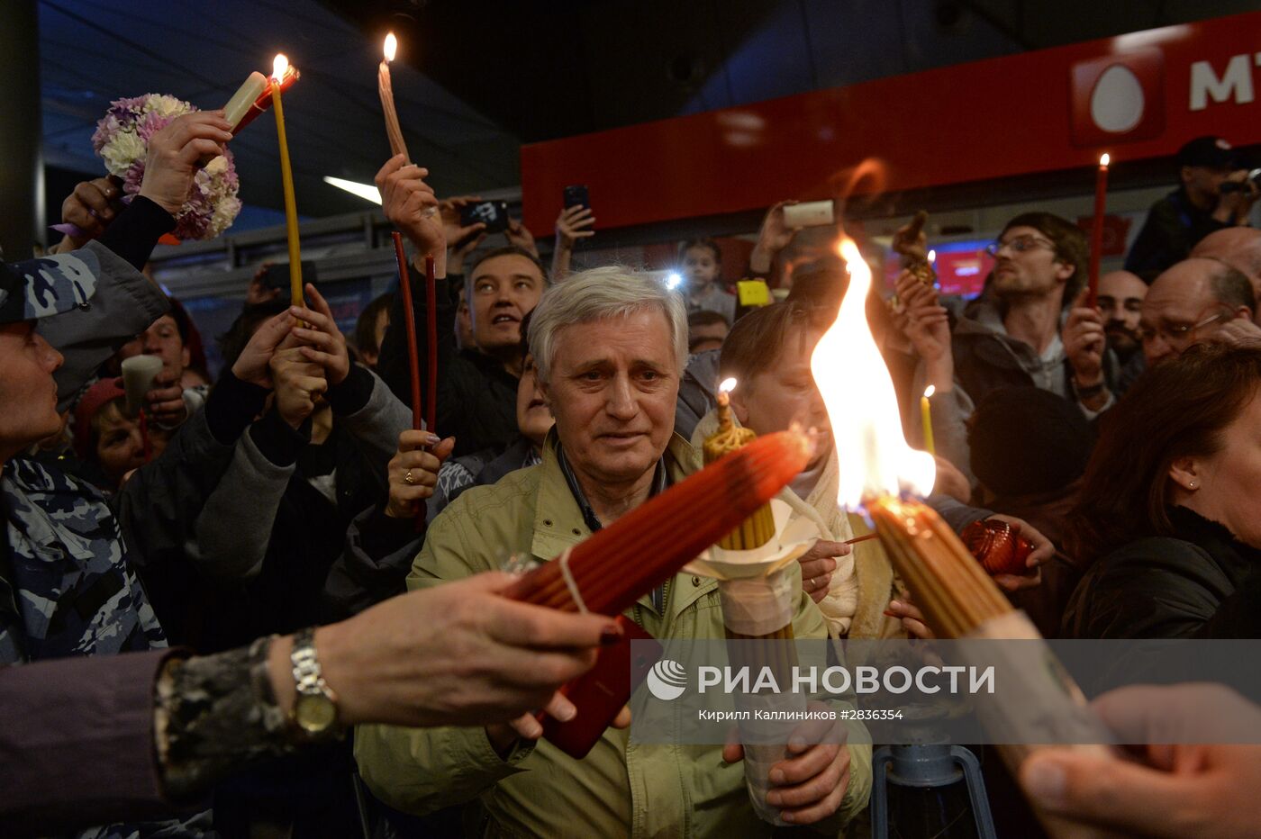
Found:
<svg viewBox="0 0 1261 839"><path fill-rule="evenodd" d="M96 294L101 261L73 251L0 268L0 324L47 317L82 306Z"/></svg>

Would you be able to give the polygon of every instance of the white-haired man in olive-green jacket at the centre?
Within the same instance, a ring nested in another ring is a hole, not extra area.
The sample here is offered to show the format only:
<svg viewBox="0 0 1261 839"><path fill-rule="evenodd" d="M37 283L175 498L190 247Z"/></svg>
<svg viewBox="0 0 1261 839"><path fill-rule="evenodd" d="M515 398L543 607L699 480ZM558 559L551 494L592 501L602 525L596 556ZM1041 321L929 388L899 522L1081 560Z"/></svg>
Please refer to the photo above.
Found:
<svg viewBox="0 0 1261 839"><path fill-rule="evenodd" d="M410 588L494 568L504 548L528 545L549 561L699 467L672 432L687 360L678 295L620 268L575 275L543 294L530 350L556 416L542 462L464 493L439 515ZM793 586L796 637L826 637L799 576ZM716 583L689 574L646 593L627 615L661 639L724 635ZM567 835L578 824L599 836L770 833L754 815L736 748L630 747L625 732L608 729L579 762L533 743L540 733L533 721L433 732L363 727L356 757L368 786L401 810L479 799L487 835ZM836 835L866 806L871 752L830 739L777 763L767 800L786 821Z"/></svg>

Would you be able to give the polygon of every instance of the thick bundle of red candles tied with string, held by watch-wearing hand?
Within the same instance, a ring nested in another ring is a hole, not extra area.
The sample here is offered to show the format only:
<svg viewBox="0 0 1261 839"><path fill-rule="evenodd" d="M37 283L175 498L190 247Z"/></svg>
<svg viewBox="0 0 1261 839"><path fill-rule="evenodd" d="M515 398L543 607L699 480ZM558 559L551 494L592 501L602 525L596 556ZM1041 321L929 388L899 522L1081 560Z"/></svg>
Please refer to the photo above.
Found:
<svg viewBox="0 0 1261 839"><path fill-rule="evenodd" d="M810 452L797 431L759 437L535 568L506 595L581 611L572 588L588 611L617 615L769 501L806 467Z"/></svg>

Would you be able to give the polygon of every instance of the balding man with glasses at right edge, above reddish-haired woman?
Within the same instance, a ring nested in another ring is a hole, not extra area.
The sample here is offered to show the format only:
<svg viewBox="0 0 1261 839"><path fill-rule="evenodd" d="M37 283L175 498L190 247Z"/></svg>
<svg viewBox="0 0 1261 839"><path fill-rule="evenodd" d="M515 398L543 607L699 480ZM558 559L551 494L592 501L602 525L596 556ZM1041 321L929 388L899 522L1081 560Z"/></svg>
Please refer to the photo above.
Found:
<svg viewBox="0 0 1261 839"><path fill-rule="evenodd" d="M1207 340L1256 340L1255 310L1252 283L1231 266L1206 258L1179 262L1156 277L1142 301L1139 335L1148 367Z"/></svg>

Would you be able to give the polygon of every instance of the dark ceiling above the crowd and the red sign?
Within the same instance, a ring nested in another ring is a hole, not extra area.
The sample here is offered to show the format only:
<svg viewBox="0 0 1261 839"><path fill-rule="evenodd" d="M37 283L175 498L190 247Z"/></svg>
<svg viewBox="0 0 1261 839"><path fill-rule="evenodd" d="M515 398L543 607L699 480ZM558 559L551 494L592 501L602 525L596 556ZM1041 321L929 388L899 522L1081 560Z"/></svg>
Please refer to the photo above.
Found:
<svg viewBox="0 0 1261 839"><path fill-rule="evenodd" d="M366 204L388 156L376 93L387 29L412 157L440 194L520 184L522 142L1261 8L1258 0L40 0L45 160L96 173L112 98L217 107L285 52L304 215ZM279 208L275 128L235 142L242 198Z"/></svg>

